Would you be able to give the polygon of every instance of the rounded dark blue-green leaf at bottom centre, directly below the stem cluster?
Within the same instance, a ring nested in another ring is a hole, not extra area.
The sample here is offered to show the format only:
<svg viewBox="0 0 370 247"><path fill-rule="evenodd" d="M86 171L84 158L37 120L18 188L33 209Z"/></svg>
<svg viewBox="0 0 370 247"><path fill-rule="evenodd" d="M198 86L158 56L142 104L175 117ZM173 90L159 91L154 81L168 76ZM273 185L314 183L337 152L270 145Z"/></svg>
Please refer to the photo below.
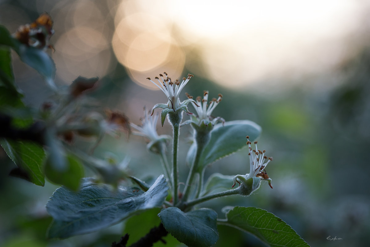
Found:
<svg viewBox="0 0 370 247"><path fill-rule="evenodd" d="M169 207L158 216L166 230L189 247L208 247L218 240L217 213L210 208L184 213L177 207Z"/></svg>

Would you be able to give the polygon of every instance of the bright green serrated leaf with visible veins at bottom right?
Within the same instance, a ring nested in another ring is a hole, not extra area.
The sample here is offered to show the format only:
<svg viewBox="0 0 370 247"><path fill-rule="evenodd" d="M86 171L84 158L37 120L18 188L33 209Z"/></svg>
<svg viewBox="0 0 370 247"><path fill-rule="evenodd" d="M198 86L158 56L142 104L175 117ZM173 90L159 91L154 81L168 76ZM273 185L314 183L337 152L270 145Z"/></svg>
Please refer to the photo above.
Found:
<svg viewBox="0 0 370 247"><path fill-rule="evenodd" d="M218 224L235 227L258 237L271 247L306 247L309 245L282 219L255 207L234 207Z"/></svg>

